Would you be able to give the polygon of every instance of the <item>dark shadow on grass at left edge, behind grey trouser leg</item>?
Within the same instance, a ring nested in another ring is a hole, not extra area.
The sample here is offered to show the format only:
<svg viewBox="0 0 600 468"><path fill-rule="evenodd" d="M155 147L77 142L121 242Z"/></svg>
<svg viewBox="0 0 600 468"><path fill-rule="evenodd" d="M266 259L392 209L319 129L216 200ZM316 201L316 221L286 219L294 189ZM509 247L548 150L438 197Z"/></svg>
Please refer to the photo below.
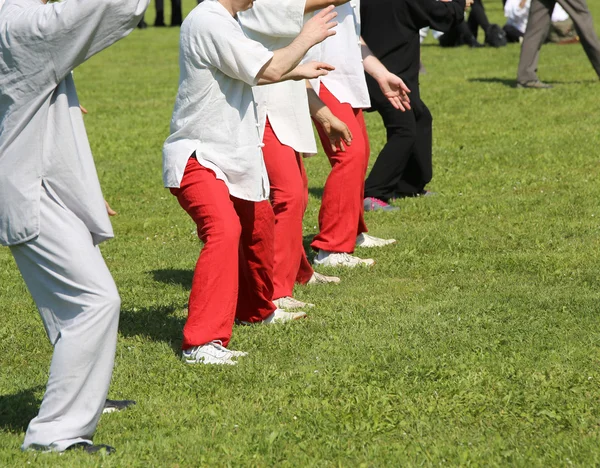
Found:
<svg viewBox="0 0 600 468"><path fill-rule="evenodd" d="M21 390L12 395L0 395L0 430L22 433L37 414L40 400L36 393L43 385Z"/></svg>

